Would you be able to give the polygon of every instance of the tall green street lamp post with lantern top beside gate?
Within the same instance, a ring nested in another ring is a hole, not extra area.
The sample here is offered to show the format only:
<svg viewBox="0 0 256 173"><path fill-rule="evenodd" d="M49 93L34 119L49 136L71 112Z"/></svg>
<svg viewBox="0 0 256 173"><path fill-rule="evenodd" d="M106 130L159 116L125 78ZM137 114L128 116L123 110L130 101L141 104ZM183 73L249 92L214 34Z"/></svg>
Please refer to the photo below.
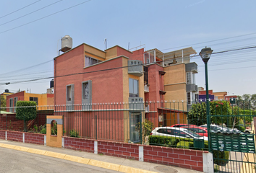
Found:
<svg viewBox="0 0 256 173"><path fill-rule="evenodd" d="M203 48L199 55L202 61L205 63L205 85L206 85L206 117L207 117L207 130L208 130L208 150L211 152L210 141L210 102L209 102L209 89L208 89L208 66L207 63L210 59L210 55L213 53L211 48Z"/></svg>

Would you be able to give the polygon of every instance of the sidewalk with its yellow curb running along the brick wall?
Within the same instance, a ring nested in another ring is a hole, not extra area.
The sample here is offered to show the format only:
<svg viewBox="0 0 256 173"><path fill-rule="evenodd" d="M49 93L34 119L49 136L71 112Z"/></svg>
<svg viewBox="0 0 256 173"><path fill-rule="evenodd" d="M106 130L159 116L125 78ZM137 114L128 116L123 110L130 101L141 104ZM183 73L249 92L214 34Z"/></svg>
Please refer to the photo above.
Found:
<svg viewBox="0 0 256 173"><path fill-rule="evenodd" d="M0 147L16 149L19 151L25 151L34 154L41 154L45 156L53 156L59 159L66 159L69 161L75 161L83 164L90 164L95 167L103 167L105 169L116 170L119 172L199 173L191 169L169 167L161 164L150 164L143 161L135 161L119 157L105 156L101 154L73 151L64 148L40 146L30 143L19 143L14 141L0 140Z"/></svg>

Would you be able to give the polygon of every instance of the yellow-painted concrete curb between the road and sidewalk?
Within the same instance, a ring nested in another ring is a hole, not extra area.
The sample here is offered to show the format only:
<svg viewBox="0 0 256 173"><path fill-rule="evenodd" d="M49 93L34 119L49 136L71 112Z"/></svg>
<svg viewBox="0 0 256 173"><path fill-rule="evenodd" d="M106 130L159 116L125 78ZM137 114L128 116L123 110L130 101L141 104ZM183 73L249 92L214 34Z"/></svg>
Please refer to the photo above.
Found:
<svg viewBox="0 0 256 173"><path fill-rule="evenodd" d="M14 150L17 150L17 151L24 151L24 152L28 152L28 153L32 153L32 154L40 154L40 155L43 155L43 156L51 156L51 157L58 158L58 159L74 161L74 162L77 162L77 163L80 163L80 164L88 164L88 165L91 165L91 166L94 166L94 167L101 167L101 168L104 168L104 169L110 169L110 170L118 171L118 172L155 173L155 172L147 171L147 170L144 170L144 169L137 169L137 168L133 168L133 167L123 166L121 164L111 164L111 163L108 163L108 162L105 162L105 161L97 161L97 160L93 160L93 159L86 159L86 158L82 158L82 157L79 157L79 156L59 154L59 153L52 152L52 151L46 151L46 150L40 150L40 149L34 149L34 148L27 148L27 147L23 147L23 146L14 146L14 145L9 145L9 144L5 144L5 143L0 143L0 147L14 149Z"/></svg>

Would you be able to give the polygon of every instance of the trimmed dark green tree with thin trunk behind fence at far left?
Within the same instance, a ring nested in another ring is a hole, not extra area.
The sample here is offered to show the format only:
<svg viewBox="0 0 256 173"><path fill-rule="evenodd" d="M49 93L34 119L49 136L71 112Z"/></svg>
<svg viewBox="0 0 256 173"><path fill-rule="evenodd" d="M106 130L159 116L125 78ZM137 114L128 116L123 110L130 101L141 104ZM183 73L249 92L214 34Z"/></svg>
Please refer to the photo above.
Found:
<svg viewBox="0 0 256 173"><path fill-rule="evenodd" d="M16 109L16 118L24 120L24 130L27 131L27 121L34 120L36 117L36 102L18 101Z"/></svg>

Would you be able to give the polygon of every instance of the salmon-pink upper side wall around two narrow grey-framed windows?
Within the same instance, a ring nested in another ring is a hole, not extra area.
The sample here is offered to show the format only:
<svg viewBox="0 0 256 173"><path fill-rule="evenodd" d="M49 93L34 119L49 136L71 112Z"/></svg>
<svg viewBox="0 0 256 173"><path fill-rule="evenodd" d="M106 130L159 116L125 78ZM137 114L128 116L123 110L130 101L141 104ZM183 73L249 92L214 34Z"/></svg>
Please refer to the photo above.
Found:
<svg viewBox="0 0 256 173"><path fill-rule="evenodd" d="M92 102L123 102L123 58L114 58L103 61L95 66L84 68L83 45L64 53L55 60L54 97L56 105L66 104L66 86L74 84L74 104L82 102L82 81L92 81ZM121 49L120 49L121 50ZM127 50L126 50L127 51ZM120 51L121 52L121 51ZM125 54L125 51L124 53ZM114 70L104 71L108 68ZM86 72L97 71L88 74ZM80 73L80 74L79 74ZM65 76L67 74L76 74Z"/></svg>

